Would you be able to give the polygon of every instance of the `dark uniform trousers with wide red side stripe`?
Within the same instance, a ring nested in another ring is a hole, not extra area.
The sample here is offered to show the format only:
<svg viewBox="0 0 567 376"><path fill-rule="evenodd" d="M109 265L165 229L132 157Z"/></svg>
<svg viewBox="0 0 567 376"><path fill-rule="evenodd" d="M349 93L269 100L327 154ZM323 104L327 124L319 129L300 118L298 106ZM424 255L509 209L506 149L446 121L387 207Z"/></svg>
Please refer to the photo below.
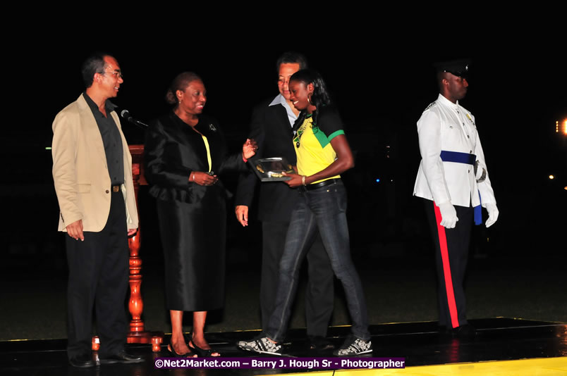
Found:
<svg viewBox="0 0 567 376"><path fill-rule="evenodd" d="M439 325L447 328L459 327L467 323L463 282L468 261L473 209L455 206L458 222L455 228L446 229L439 225L439 208L433 201L424 201L435 247L439 282Z"/></svg>

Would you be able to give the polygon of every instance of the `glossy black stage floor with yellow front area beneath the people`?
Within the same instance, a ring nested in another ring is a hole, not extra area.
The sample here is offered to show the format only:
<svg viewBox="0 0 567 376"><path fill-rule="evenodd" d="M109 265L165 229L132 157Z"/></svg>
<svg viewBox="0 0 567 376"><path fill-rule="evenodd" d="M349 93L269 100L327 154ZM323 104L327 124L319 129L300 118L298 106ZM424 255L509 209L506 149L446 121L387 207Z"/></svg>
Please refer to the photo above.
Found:
<svg viewBox="0 0 567 376"><path fill-rule="evenodd" d="M356 370L357 375L567 375L567 325L513 318L470 320L477 328L475 339L445 339L437 334L437 322L405 322L372 325L374 351L369 356L405 358L403 370ZM330 327L328 338L340 346L350 327ZM240 351L235 343L258 334L240 332L209 333L209 343L223 357L261 358ZM150 345L130 345L133 353L145 356L144 363L133 365L101 365L78 369L67 363L66 339L0 341L0 375L274 375L312 372L321 369L158 369L154 359L167 357L166 343L161 353L152 353ZM286 354L296 357L331 357L327 353L311 353L306 349L305 330L288 333ZM523 360L523 361L520 361ZM530 361L527 361L530 360ZM494 362L496 361L496 362ZM512 361L512 362L511 362ZM483 363L489 362L489 363ZM470 363L457 365L451 363ZM439 368L439 365L444 365ZM446 365L446 366L445 366ZM427 366L427 367L423 367ZM435 367L431 367L435 366ZM541 372L539 370L541 369ZM495 370L498 370L496 373ZM325 370L322 375L331 375ZM336 371L341 375L353 372ZM469 373L467 373L469 372ZM524 373L521 373L524 372ZM526 373L527 372L527 373Z"/></svg>

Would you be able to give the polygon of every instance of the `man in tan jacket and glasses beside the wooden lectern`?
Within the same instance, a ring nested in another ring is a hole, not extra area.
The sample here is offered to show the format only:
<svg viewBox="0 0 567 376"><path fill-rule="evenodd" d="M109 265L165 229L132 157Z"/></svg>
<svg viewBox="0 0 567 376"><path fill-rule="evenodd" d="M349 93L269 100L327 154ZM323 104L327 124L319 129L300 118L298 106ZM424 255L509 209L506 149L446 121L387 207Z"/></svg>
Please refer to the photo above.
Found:
<svg viewBox="0 0 567 376"><path fill-rule="evenodd" d="M142 361L124 350L128 321L128 235L138 228L132 158L114 104L123 83L109 55L87 58L87 89L53 123L53 180L59 231L67 232L68 347L75 367L92 367L92 307L101 341L100 363Z"/></svg>

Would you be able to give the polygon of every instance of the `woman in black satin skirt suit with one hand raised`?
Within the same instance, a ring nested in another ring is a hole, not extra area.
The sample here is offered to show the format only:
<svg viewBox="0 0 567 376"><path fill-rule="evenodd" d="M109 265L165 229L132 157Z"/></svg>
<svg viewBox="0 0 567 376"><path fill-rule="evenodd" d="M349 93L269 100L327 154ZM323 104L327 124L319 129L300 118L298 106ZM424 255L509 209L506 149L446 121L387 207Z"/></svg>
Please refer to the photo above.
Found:
<svg viewBox="0 0 567 376"><path fill-rule="evenodd" d="M206 90L195 73L178 75L166 100L175 107L147 131L145 176L157 199L164 249L168 349L175 356L219 356L203 333L207 311L224 303L226 191L217 173L245 170L256 145L247 140L242 153L226 155L218 123L202 114ZM183 337L183 311L193 311L189 343Z"/></svg>

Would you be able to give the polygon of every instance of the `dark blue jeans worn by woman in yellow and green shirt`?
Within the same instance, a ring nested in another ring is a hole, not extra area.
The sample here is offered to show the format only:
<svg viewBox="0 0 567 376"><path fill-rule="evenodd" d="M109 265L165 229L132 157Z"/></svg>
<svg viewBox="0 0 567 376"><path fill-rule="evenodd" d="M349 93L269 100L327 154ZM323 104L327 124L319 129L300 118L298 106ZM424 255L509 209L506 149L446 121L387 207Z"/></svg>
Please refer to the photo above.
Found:
<svg viewBox="0 0 567 376"><path fill-rule="evenodd" d="M317 229L331 260L331 267L343 284L348 311L353 320L352 332L360 339L370 339L364 292L350 258L346 189L341 180L335 182L310 191L300 188L297 206L291 214L284 256L279 263L274 312L264 332L274 341L283 341L286 335L301 263L315 240Z"/></svg>

